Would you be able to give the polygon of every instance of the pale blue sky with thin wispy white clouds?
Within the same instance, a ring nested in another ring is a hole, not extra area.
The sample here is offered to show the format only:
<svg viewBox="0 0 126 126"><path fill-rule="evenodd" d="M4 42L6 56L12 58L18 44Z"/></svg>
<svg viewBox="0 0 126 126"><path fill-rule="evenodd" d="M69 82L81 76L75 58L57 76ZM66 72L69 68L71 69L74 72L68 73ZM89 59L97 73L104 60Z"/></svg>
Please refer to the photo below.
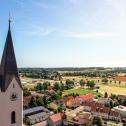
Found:
<svg viewBox="0 0 126 126"><path fill-rule="evenodd" d="M126 0L0 0L18 67L126 67Z"/></svg>

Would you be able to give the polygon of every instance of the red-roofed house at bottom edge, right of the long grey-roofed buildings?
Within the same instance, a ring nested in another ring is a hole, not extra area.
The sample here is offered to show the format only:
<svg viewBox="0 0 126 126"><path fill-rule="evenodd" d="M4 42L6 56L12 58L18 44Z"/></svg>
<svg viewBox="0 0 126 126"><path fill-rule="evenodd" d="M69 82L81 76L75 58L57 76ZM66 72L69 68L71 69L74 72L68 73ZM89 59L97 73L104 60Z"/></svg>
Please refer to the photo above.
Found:
<svg viewBox="0 0 126 126"><path fill-rule="evenodd" d="M63 126L64 113L57 113L48 118L49 126Z"/></svg>

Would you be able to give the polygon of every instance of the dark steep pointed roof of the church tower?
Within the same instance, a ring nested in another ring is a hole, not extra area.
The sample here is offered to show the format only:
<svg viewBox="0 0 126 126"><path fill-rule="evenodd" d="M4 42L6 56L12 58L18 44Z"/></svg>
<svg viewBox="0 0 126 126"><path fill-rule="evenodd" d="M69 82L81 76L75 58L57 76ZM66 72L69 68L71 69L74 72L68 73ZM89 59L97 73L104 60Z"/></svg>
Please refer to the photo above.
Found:
<svg viewBox="0 0 126 126"><path fill-rule="evenodd" d="M9 29L7 33L6 43L4 47L4 52L1 60L1 91L6 91L13 77L16 78L17 82L21 86L21 82L18 76L17 63L14 53L13 41L10 30L10 20Z"/></svg>

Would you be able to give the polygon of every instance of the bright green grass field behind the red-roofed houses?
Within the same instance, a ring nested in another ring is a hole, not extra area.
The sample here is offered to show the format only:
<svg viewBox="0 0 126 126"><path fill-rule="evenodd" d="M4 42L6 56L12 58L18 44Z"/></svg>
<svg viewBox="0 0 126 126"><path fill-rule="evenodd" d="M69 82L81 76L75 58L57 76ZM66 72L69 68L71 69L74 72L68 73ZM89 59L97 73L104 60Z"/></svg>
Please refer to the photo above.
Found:
<svg viewBox="0 0 126 126"><path fill-rule="evenodd" d="M71 93L75 93L75 94L79 94L79 95L85 95L88 93L92 93L95 95L101 95L101 93L97 93L96 91L93 90L89 90L89 89L70 89L70 90L65 90L63 92L63 95L67 95L67 94L71 94Z"/></svg>

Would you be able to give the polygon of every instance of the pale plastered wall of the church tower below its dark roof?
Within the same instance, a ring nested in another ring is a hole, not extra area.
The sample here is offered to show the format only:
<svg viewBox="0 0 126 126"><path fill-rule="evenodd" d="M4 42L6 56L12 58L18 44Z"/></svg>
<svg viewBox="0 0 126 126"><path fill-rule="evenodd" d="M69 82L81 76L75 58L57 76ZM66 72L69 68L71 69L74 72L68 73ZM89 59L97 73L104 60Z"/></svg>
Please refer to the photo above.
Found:
<svg viewBox="0 0 126 126"><path fill-rule="evenodd" d="M17 99L11 100L12 93L17 93ZM0 126L22 126L23 124L23 91L13 78L6 92L0 91ZM16 123L11 124L11 112L16 113Z"/></svg>

